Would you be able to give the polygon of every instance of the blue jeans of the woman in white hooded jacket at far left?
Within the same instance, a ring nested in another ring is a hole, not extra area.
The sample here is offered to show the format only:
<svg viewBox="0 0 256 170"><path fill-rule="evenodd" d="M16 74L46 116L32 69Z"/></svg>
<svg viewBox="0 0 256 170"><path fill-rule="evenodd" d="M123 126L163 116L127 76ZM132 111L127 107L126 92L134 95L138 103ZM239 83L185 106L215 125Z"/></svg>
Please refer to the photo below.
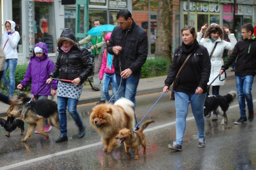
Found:
<svg viewBox="0 0 256 170"><path fill-rule="evenodd" d="M5 63L4 63L4 67L5 70L3 72L3 77L2 77L2 81L5 84L6 88L9 91L10 95L14 95L14 89L15 89L15 70L16 70L16 66L17 66L17 62L18 60L16 58L12 58L12 59L6 59ZM6 71L9 67L9 79L10 79L10 83L9 80L6 78Z"/></svg>

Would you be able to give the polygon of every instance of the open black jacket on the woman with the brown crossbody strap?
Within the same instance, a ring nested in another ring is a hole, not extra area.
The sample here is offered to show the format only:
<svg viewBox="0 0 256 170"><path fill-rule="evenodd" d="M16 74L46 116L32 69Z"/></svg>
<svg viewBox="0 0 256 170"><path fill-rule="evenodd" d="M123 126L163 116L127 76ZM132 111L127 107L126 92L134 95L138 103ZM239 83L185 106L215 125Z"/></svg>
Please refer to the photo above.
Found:
<svg viewBox="0 0 256 170"><path fill-rule="evenodd" d="M182 56L181 46L175 49L172 65L168 72L167 79L165 80L165 86L170 87L173 83L179 69L182 64L180 64L180 58ZM193 68L195 71L195 79L197 79L198 86L203 89L203 92L207 92L207 83L209 82L209 77L211 73L211 61L207 49L201 45L198 45L195 51L191 54ZM184 65L186 67L186 64ZM179 77L175 87L179 86ZM196 89L195 89L196 90Z"/></svg>

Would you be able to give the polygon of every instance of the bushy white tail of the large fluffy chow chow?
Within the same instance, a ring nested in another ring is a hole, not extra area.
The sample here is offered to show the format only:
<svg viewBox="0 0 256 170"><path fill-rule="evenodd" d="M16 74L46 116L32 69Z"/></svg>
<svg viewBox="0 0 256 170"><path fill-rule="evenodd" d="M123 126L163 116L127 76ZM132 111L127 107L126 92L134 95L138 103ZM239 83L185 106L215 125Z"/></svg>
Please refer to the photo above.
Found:
<svg viewBox="0 0 256 170"><path fill-rule="evenodd" d="M119 106L124 109L125 113L129 116L130 120L128 122L128 129L133 130L135 126L135 120L134 120L134 109L132 108L134 106L134 103L126 98L120 98L115 102L116 106Z"/></svg>

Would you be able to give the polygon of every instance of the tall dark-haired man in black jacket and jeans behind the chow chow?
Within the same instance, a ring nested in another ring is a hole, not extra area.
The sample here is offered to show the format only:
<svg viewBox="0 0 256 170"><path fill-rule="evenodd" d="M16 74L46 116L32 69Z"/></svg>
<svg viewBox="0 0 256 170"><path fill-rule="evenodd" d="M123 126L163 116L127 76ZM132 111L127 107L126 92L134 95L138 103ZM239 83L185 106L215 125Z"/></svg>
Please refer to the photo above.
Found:
<svg viewBox="0 0 256 170"><path fill-rule="evenodd" d="M147 59L147 33L134 22L128 10L120 10L116 16L119 25L114 28L108 44L108 52L114 56L119 97L134 102L140 80L141 67ZM137 122L137 121L136 121Z"/></svg>

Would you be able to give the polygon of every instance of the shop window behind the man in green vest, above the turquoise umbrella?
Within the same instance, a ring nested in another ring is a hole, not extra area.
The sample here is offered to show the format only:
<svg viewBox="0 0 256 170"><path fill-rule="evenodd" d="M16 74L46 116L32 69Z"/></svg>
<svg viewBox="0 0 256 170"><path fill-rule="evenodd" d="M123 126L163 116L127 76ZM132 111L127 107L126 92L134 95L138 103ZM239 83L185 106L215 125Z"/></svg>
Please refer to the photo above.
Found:
<svg viewBox="0 0 256 170"><path fill-rule="evenodd" d="M89 10L89 30L94 27L95 19L100 19L102 25L108 24L108 11L107 10Z"/></svg>

